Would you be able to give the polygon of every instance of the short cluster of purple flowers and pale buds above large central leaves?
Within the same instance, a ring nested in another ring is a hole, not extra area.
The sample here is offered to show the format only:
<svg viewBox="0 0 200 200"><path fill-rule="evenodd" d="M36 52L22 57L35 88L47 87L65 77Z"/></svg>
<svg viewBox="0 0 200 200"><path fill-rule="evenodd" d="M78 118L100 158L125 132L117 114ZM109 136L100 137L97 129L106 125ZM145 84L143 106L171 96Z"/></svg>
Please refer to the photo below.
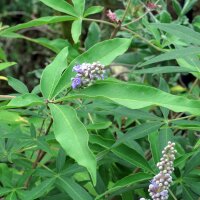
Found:
<svg viewBox="0 0 200 200"><path fill-rule="evenodd" d="M102 80L105 76L104 65L100 62L83 63L73 67L76 76L72 78L72 88L83 88L91 85L95 80Z"/></svg>

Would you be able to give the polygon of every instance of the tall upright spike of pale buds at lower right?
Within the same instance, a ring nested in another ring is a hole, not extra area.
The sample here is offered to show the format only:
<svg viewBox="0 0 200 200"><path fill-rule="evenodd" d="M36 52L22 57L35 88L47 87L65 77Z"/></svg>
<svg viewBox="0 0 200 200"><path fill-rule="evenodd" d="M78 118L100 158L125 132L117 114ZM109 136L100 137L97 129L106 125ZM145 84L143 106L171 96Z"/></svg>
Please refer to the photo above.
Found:
<svg viewBox="0 0 200 200"><path fill-rule="evenodd" d="M168 189L172 183L172 172L174 171L173 162L175 159L176 150L175 143L168 142L168 145L162 151L162 158L157 163L160 172L153 177L149 185L149 195L152 200L167 200L169 197ZM145 200L140 198L140 200Z"/></svg>

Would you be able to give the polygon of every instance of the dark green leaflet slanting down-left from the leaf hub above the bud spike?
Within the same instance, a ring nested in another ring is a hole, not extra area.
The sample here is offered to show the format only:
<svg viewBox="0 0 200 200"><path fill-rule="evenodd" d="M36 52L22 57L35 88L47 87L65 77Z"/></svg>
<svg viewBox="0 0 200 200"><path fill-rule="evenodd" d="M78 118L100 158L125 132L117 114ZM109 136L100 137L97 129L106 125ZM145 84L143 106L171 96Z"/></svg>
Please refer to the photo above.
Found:
<svg viewBox="0 0 200 200"><path fill-rule="evenodd" d="M138 125L126 132L122 137L120 137L115 145L119 145L125 141L135 140L142 137L145 137L146 135L156 131L159 129L159 127L162 125L162 123L159 122L151 122L151 123L144 123L141 125Z"/></svg>

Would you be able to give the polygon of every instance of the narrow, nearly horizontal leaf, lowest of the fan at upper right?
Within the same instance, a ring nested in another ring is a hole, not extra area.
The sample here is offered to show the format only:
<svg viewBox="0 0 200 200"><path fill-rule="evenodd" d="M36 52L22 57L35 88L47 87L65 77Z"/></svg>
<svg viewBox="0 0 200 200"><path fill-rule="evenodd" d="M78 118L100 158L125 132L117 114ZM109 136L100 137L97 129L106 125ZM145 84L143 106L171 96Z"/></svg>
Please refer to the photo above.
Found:
<svg viewBox="0 0 200 200"><path fill-rule="evenodd" d="M133 71L134 74L164 74L164 73L180 73L180 72L198 72L198 71L178 66L150 67L147 69L139 69Z"/></svg>

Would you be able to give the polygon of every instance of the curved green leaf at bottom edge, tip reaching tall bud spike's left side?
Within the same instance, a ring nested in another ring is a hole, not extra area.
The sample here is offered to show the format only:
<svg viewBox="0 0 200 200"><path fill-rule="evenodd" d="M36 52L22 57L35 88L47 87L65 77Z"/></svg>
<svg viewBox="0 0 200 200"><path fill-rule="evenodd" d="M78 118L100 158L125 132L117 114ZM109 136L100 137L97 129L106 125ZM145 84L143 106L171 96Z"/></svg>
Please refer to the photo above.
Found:
<svg viewBox="0 0 200 200"><path fill-rule="evenodd" d="M133 184L140 183L142 181L146 181L152 178L152 175L146 173L137 173L126 176L121 180L117 181L109 190L104 192L103 194L96 197L96 199L101 199L106 194L111 194L121 188L127 188Z"/></svg>

